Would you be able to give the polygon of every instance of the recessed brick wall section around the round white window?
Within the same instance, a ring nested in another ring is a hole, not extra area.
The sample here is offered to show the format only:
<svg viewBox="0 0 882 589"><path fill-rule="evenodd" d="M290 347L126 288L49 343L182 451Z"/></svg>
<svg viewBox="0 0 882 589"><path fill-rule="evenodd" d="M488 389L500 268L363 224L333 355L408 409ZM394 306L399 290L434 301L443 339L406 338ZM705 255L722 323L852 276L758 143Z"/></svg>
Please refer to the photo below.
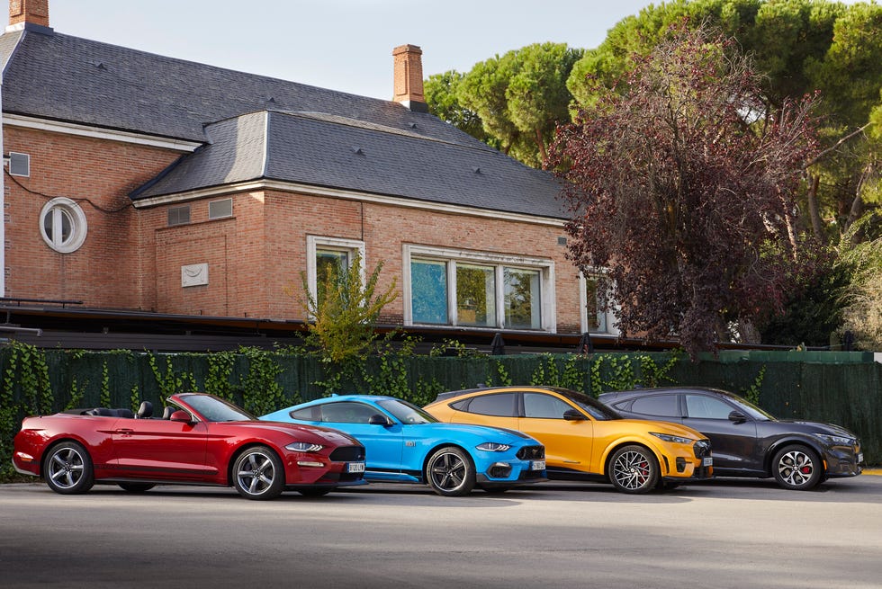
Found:
<svg viewBox="0 0 882 589"><path fill-rule="evenodd" d="M4 178L7 297L83 300L94 307L140 308L133 246L136 211L128 193L179 156L156 147L4 126L4 153L31 156L29 177ZM84 244L59 254L40 236L52 198L85 213Z"/></svg>

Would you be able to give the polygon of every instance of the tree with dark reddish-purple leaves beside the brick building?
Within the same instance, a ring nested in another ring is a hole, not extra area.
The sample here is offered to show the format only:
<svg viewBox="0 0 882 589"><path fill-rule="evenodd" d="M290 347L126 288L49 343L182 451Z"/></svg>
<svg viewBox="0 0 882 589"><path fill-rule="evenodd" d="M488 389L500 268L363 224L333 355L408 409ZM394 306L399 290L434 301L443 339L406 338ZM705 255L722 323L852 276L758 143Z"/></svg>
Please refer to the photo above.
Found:
<svg viewBox="0 0 882 589"><path fill-rule="evenodd" d="M772 112L727 40L671 32L558 129L570 255L619 328L691 356L778 310L797 260L794 196L816 151L813 99ZM736 335L737 336L737 335Z"/></svg>

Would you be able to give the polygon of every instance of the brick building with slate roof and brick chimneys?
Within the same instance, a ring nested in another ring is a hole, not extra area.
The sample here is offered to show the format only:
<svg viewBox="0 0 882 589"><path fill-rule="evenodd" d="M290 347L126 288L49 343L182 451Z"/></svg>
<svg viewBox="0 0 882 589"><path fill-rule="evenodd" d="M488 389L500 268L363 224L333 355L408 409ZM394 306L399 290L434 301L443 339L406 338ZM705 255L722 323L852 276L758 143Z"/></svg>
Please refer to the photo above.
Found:
<svg viewBox="0 0 882 589"><path fill-rule="evenodd" d="M401 292L392 326L614 331L565 258L554 178L429 114L418 47L382 101L69 36L48 0L9 10L0 293L20 320L74 300L49 316L302 324L302 272L315 289L358 252Z"/></svg>

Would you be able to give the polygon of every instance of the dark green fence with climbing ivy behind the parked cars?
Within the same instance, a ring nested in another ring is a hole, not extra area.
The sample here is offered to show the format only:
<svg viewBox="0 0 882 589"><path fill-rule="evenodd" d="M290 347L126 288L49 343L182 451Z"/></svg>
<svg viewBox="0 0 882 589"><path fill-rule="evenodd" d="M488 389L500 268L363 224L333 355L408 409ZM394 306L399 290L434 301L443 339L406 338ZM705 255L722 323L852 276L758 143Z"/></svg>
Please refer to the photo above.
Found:
<svg viewBox="0 0 882 589"><path fill-rule="evenodd" d="M422 405L479 384L545 384L592 394L635 385L704 385L752 397L772 414L841 424L882 463L882 363L871 353L524 354L447 358L383 355L340 373L318 358L263 352L130 353L0 348L0 472L23 415L126 406L206 390L255 413L331 392L390 394Z"/></svg>

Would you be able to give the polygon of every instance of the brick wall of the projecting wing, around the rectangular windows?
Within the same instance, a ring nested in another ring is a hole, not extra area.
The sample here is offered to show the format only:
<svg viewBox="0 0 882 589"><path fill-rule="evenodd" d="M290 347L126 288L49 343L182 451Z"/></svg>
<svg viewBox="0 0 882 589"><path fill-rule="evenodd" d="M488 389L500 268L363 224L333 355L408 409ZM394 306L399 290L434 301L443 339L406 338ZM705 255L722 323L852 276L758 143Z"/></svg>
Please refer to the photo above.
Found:
<svg viewBox="0 0 882 589"><path fill-rule="evenodd" d="M192 201L186 226L162 227L168 205L143 211L145 232L156 236L157 310L303 319L307 238L320 236L363 242L367 272L383 261L378 291L394 281L400 293L386 320L404 316L402 244L430 245L552 260L557 331L581 330L578 272L558 244L563 228L275 191L235 194L232 218L207 220L208 201L218 198ZM181 266L192 263L209 264L208 285L181 286Z"/></svg>

